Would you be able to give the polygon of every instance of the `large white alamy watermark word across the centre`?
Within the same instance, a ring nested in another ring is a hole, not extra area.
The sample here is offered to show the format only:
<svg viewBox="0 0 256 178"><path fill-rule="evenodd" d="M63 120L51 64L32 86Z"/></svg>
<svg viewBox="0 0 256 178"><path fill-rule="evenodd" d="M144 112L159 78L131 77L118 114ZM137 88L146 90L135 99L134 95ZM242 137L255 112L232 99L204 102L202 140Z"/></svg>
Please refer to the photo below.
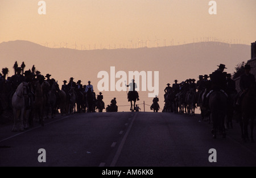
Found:
<svg viewBox="0 0 256 178"><path fill-rule="evenodd" d="M140 91L141 88L141 91L143 92L148 91L148 97L155 97L159 94L159 71L154 71L154 86L152 85L152 74L153 71L129 71L127 80L127 73L125 71L115 72L115 67L112 66L110 67L110 74L107 71L98 72L97 77L102 79L98 81L97 88L100 92L121 92L127 91L127 85L130 85L129 90L133 90L133 88L131 87L131 83L134 79L134 82L137 85L137 87L135 87L135 90ZM116 78L119 78L119 80L115 82Z"/></svg>

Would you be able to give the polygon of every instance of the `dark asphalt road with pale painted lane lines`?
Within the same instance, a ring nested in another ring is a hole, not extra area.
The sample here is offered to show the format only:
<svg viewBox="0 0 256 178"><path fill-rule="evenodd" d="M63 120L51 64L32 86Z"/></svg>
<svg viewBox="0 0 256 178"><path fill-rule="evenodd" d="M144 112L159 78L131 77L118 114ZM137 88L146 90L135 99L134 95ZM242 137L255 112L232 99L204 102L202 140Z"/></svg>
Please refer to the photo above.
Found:
<svg viewBox="0 0 256 178"><path fill-rule="evenodd" d="M5 125L0 127L0 166L256 166L256 145L242 142L238 123L227 138L213 139L211 125L199 119L173 113L86 113L59 115L23 133ZM40 148L46 150L46 162L38 162ZM210 148L217 162L209 162Z"/></svg>

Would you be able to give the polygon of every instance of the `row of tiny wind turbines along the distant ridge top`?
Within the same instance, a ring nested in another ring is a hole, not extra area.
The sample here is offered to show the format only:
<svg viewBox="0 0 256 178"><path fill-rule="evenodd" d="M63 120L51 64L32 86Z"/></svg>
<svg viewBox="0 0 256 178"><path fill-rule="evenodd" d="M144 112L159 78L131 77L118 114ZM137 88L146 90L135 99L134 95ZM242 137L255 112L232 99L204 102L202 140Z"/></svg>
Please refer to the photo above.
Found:
<svg viewBox="0 0 256 178"><path fill-rule="evenodd" d="M44 45L45 47L50 47L50 48L71 48L71 49L79 49L79 50L91 50L91 49L121 49L121 48L130 48L130 49L136 49L136 48L158 48L158 47L166 47L169 45L183 45L183 44L188 44L187 42L183 41L183 42L179 42L179 41L174 41L174 39L172 40L166 40L166 39L158 39L155 36L155 40L153 41L154 43L150 45L151 40L150 39L140 39L138 38L137 40L129 40L129 43L123 43L123 44L119 44L119 45L102 45L102 44L80 44L77 45L77 43L75 42L75 44L71 44L71 47L68 47L68 43L67 42L61 42L61 43L55 43L53 42L51 45L49 45L48 42L43 43L42 45ZM162 45L160 44L162 42ZM168 42L168 44L167 44ZM238 39L218 39L218 38L214 38L214 37L203 37L203 38L193 38L193 43L201 43L201 42L217 42L217 43L228 43L230 44L246 44L246 45L250 45L249 41L245 41L245 40L238 40ZM192 42L190 42L192 43Z"/></svg>

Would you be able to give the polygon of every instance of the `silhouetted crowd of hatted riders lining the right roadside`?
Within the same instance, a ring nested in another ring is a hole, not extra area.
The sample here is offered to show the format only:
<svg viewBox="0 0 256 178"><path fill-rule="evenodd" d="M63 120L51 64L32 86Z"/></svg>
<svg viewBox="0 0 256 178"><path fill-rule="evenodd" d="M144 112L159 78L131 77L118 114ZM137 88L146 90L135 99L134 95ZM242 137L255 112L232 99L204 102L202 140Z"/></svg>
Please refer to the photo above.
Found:
<svg viewBox="0 0 256 178"><path fill-rule="evenodd" d="M164 89L164 102L165 106L163 111L170 111L171 112L179 112L183 113L186 110L177 107L175 110L175 102L177 101L177 97L181 96L179 99L182 100L183 105L187 105L185 98L187 97L188 93L193 93L194 97L194 107L199 106L203 108L203 111L209 111L209 95L213 91L221 91L225 93L227 97L230 95L236 96L234 107L241 105L241 98L244 96L246 91L249 89L250 85L255 82L255 77L253 74L250 73L250 65L246 64L244 66L244 73L240 77L240 84L239 87L241 91L238 93L236 90L236 82L232 79L232 74L224 72L226 69L224 64L220 64L217 66L218 68L216 71L209 74L199 75L199 79L196 81L195 78L189 78L185 81L178 83L177 80L174 81L172 86L168 83L167 87ZM168 95L172 96L168 99ZM170 110L168 110L167 100L171 100L172 105L170 105ZM179 109L179 111L178 111ZM186 107L184 106L184 109ZM208 112L209 113L209 112Z"/></svg>

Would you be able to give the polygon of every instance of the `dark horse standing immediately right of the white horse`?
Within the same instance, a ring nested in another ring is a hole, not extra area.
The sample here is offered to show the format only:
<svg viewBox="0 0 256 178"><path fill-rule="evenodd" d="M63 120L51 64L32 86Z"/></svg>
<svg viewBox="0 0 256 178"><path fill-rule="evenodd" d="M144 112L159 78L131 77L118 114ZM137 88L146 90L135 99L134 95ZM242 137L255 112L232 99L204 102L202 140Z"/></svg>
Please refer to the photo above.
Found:
<svg viewBox="0 0 256 178"><path fill-rule="evenodd" d="M34 115L34 118L39 119L39 123L44 126L44 118L43 118L43 104L44 104L44 98L43 98L43 90L41 85L39 84L39 81L33 81L31 83L31 92L34 93L35 100L34 104L32 105L32 114ZM31 121L31 125L34 125L34 119Z"/></svg>

